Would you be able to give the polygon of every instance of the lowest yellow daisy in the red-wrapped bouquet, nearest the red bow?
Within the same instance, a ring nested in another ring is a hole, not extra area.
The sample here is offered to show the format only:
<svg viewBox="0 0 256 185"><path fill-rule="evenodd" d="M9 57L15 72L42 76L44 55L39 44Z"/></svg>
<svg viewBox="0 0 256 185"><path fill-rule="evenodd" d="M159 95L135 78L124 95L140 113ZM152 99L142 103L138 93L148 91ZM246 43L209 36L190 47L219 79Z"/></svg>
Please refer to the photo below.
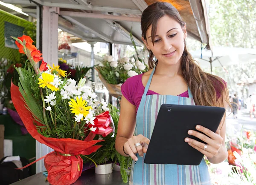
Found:
<svg viewBox="0 0 256 185"><path fill-rule="evenodd" d="M74 113L75 115L79 115L79 114L83 114L84 117L87 116L87 114L89 114L89 110L92 109L92 107L90 106L86 106L87 102L85 100L83 100L82 97L80 97L80 99L78 97L76 97L76 101L74 99L71 99L70 103L70 107L72 107L70 110L72 111L72 113ZM83 120L84 118L82 118L81 120Z"/></svg>

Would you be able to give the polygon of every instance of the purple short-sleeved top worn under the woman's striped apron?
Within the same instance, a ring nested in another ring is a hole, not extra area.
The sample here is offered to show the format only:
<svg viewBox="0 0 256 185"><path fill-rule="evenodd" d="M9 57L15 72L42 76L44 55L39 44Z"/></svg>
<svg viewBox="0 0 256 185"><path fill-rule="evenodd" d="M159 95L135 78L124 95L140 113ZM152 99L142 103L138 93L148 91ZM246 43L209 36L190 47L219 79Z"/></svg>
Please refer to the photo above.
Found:
<svg viewBox="0 0 256 185"><path fill-rule="evenodd" d="M144 74L144 73L143 73ZM145 87L142 83L142 76L143 74L139 74L133 77L128 78L125 83L123 83L121 87L122 95L132 104L136 106L136 114L140 105L141 98L143 96ZM223 80L224 81L224 80ZM218 98L221 97L220 90L218 90L217 84L215 85L215 90L217 93ZM158 94L154 91L148 89L146 95L153 95ZM180 97L189 97L188 91L179 94Z"/></svg>

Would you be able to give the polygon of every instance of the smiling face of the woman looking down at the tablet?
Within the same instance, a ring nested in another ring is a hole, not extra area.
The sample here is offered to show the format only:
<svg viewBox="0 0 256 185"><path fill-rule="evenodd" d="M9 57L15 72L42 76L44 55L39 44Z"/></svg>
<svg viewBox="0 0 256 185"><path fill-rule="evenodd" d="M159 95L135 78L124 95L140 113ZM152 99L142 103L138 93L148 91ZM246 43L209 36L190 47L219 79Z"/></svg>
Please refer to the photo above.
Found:
<svg viewBox="0 0 256 185"><path fill-rule="evenodd" d="M159 63L175 65L180 61L184 51L184 40L186 39L186 25L181 28L180 24L169 16L161 17L157 23L154 46L151 38L151 28L146 32L145 45L151 50Z"/></svg>

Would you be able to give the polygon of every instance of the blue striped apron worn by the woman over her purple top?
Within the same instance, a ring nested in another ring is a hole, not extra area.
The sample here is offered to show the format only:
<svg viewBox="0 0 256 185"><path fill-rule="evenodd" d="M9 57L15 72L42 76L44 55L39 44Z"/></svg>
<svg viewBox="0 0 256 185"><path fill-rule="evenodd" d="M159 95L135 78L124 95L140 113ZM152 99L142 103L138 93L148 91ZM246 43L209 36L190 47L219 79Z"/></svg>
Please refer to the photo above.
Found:
<svg viewBox="0 0 256 185"><path fill-rule="evenodd" d="M135 134L142 134L148 139L151 138L162 104L195 105L189 88L189 98L159 94L146 96L154 71L155 67L145 87L136 117ZM138 161L133 162L130 185L211 185L204 159L198 166L145 164L143 161L144 157L138 156Z"/></svg>

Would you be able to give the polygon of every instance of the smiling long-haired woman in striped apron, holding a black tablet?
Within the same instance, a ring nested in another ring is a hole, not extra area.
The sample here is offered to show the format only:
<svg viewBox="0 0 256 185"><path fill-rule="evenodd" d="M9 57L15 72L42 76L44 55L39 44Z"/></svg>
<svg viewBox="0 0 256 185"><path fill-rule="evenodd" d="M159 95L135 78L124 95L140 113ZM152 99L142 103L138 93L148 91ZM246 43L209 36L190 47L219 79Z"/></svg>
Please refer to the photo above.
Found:
<svg viewBox="0 0 256 185"><path fill-rule="evenodd" d="M163 103L225 107L229 104L224 81L207 74L192 60L186 49L186 24L169 3L154 3L141 17L142 39L150 52L150 71L131 77L122 85L121 114L116 135L116 150L134 159L130 184L133 185L210 185L204 160L198 166L154 165L143 162L143 154ZM154 60L154 58L156 58ZM136 136L134 130L136 126ZM184 142L206 155L210 162L227 158L225 122L216 133L198 125ZM139 157L140 156L140 157ZM136 164L134 164L136 161Z"/></svg>

